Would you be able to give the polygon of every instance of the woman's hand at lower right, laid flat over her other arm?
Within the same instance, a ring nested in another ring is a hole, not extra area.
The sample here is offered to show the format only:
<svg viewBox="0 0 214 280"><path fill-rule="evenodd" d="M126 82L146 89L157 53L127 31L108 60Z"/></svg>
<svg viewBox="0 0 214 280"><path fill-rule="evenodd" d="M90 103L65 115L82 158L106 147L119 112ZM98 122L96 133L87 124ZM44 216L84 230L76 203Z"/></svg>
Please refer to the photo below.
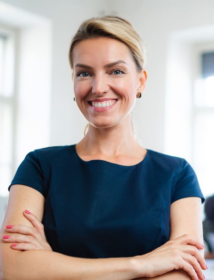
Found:
<svg viewBox="0 0 214 280"><path fill-rule="evenodd" d="M207 269L198 249L204 247L198 239L185 234L169 240L145 255L132 257L137 277L155 277L174 269L185 270L193 280L204 279L202 269Z"/></svg>

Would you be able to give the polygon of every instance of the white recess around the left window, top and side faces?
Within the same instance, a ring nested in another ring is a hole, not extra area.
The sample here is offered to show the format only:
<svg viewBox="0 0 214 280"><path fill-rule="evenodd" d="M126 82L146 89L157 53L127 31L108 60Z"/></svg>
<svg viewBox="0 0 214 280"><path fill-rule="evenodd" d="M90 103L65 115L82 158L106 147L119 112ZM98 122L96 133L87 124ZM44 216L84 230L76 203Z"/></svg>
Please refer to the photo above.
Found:
<svg viewBox="0 0 214 280"><path fill-rule="evenodd" d="M13 170L50 142L51 21L0 2L0 21L14 30Z"/></svg>

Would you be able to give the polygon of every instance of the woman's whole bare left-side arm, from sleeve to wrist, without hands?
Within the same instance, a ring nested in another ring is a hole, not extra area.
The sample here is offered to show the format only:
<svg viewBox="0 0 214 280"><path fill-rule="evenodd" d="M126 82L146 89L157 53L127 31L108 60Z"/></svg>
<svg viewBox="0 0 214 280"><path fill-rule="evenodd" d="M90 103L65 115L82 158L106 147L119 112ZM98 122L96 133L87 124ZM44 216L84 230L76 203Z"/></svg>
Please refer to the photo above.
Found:
<svg viewBox="0 0 214 280"><path fill-rule="evenodd" d="M42 221L45 198L35 189L25 185L13 185L0 230L0 279L1 280L62 280L62 279L111 279L129 280L136 277L130 258L84 259L70 257L47 250L18 251L11 243L4 243L2 235L8 235L5 226L23 224L32 226L23 211L29 209Z"/></svg>

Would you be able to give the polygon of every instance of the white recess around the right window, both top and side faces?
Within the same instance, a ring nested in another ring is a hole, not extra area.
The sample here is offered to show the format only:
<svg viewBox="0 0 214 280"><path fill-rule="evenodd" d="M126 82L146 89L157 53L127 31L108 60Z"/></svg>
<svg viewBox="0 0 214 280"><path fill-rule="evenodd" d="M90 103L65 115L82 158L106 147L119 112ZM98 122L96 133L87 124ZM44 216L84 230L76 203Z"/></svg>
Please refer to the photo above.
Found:
<svg viewBox="0 0 214 280"><path fill-rule="evenodd" d="M194 95L195 82L201 77L198 47L201 52L214 49L214 25L172 32L168 46L165 152L195 164ZM202 94L200 89L200 96ZM198 144L197 149L200 152L201 145Z"/></svg>

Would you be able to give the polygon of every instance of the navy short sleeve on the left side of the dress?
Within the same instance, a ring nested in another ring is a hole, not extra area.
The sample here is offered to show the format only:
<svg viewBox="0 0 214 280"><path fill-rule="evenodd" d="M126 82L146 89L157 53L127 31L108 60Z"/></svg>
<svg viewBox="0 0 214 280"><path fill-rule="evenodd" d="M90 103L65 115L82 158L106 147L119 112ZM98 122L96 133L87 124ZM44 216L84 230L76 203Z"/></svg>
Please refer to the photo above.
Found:
<svg viewBox="0 0 214 280"><path fill-rule="evenodd" d="M36 189L45 196L44 179L38 153L34 150L29 152L19 165L8 191L13 184L21 184Z"/></svg>

